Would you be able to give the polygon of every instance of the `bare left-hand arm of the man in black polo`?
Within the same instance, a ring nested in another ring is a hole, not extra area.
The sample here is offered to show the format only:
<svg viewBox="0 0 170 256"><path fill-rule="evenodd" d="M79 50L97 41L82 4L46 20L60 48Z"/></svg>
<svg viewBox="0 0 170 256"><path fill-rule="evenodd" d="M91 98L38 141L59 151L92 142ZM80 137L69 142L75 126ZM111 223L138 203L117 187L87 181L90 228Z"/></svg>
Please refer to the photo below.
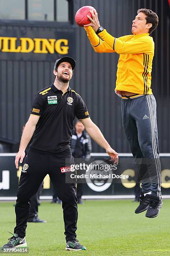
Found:
<svg viewBox="0 0 170 256"><path fill-rule="evenodd" d="M30 115L30 118L28 119L28 122L25 125L23 135L21 137L20 148L18 154L15 157L15 166L17 169L19 160L20 163L23 162L23 159L25 157L25 148L27 147L28 143L30 142L30 139L32 138L39 118L40 116L38 115Z"/></svg>

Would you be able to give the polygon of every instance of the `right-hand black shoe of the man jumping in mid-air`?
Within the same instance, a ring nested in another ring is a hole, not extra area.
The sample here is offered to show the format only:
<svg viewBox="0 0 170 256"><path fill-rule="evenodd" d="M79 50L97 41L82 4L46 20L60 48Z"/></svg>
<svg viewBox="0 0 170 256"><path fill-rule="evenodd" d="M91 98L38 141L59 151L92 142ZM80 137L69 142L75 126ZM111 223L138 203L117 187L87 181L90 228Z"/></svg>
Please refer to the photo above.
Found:
<svg viewBox="0 0 170 256"><path fill-rule="evenodd" d="M160 212L160 208L163 204L163 200L160 199L157 195L150 195L150 205L146 212L147 218L155 218Z"/></svg>

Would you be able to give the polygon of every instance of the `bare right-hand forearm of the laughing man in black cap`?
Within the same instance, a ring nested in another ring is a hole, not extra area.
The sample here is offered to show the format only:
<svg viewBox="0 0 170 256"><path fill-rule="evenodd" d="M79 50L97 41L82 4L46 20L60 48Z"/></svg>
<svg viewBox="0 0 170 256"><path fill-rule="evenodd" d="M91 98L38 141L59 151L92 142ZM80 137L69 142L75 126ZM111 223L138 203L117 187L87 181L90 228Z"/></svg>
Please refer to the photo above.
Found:
<svg viewBox="0 0 170 256"><path fill-rule="evenodd" d="M111 148L109 143L106 141L102 135L100 129L92 122L90 118L80 120L85 126L87 133L90 137L102 148L105 148L106 153L111 157L111 160L114 160L114 164L118 163L118 153Z"/></svg>

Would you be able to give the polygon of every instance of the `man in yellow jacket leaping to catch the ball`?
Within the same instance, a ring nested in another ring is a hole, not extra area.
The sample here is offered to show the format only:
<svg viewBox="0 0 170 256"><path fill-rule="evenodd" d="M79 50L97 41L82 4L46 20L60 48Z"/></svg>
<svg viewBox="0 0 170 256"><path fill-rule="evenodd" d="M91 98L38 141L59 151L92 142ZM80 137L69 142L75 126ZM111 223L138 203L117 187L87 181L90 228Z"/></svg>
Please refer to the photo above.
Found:
<svg viewBox="0 0 170 256"><path fill-rule="evenodd" d="M150 33L158 26L158 15L139 9L132 24L133 35L115 38L100 26L91 11L87 36L96 52L120 54L115 93L122 98L121 113L125 135L139 166L142 193L135 213L158 216L161 205L161 174L156 121L156 101L151 90L154 41Z"/></svg>

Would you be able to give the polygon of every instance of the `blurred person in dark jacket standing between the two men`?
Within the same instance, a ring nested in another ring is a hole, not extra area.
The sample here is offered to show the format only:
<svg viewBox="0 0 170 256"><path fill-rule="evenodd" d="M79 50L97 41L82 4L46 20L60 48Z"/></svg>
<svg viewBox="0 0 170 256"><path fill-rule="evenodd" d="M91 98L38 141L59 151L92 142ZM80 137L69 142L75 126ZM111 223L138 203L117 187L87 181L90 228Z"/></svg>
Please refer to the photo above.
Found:
<svg viewBox="0 0 170 256"><path fill-rule="evenodd" d="M76 159L90 159L90 153L92 151L91 138L85 131L84 125L79 120L75 123L75 130L72 132L70 147L75 161ZM77 203L83 204L81 200L83 195L83 183L77 183L76 194Z"/></svg>

